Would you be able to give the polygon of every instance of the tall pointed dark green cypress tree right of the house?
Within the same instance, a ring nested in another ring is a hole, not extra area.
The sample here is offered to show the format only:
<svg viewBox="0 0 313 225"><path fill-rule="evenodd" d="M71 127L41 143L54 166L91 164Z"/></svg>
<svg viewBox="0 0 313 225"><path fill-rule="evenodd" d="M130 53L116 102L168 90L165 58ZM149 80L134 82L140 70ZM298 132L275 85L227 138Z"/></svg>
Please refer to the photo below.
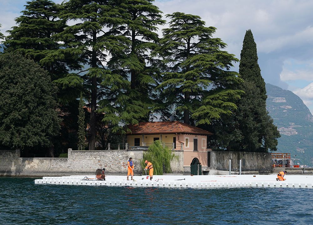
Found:
<svg viewBox="0 0 313 225"><path fill-rule="evenodd" d="M233 148L244 151L275 151L280 134L266 111L265 82L261 76L251 30L246 31L240 56L239 73L244 83L239 88L245 94L237 102L235 120L239 124L242 140Z"/></svg>

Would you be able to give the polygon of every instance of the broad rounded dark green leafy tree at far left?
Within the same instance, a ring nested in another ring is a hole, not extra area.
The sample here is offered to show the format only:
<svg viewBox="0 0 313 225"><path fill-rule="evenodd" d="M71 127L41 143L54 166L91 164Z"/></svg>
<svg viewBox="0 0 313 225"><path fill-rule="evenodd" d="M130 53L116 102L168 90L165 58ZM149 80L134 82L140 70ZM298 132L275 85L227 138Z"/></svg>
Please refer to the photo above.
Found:
<svg viewBox="0 0 313 225"><path fill-rule="evenodd" d="M46 71L19 54L0 55L0 141L50 147L59 132L55 87Z"/></svg>

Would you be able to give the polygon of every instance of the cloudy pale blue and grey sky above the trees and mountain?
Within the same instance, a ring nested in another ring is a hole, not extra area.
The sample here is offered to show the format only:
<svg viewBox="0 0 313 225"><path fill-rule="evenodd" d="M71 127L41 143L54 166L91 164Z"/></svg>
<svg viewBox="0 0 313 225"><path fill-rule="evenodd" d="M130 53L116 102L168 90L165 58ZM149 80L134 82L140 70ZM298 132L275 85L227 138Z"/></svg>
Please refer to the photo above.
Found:
<svg viewBox="0 0 313 225"><path fill-rule="evenodd" d="M25 2L0 0L4 34L14 26ZM245 31L251 29L265 82L293 91L313 113L313 1L159 0L155 4L164 14L201 16L207 26L217 28L215 37L222 38L237 58Z"/></svg>

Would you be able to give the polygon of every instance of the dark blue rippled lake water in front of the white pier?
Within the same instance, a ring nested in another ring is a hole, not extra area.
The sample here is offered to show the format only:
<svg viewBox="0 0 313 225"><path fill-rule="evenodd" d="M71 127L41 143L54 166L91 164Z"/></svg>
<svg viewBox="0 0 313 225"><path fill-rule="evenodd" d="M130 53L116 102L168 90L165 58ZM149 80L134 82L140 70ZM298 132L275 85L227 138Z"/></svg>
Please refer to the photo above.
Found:
<svg viewBox="0 0 313 225"><path fill-rule="evenodd" d="M35 185L0 177L0 224L313 224L313 190Z"/></svg>

